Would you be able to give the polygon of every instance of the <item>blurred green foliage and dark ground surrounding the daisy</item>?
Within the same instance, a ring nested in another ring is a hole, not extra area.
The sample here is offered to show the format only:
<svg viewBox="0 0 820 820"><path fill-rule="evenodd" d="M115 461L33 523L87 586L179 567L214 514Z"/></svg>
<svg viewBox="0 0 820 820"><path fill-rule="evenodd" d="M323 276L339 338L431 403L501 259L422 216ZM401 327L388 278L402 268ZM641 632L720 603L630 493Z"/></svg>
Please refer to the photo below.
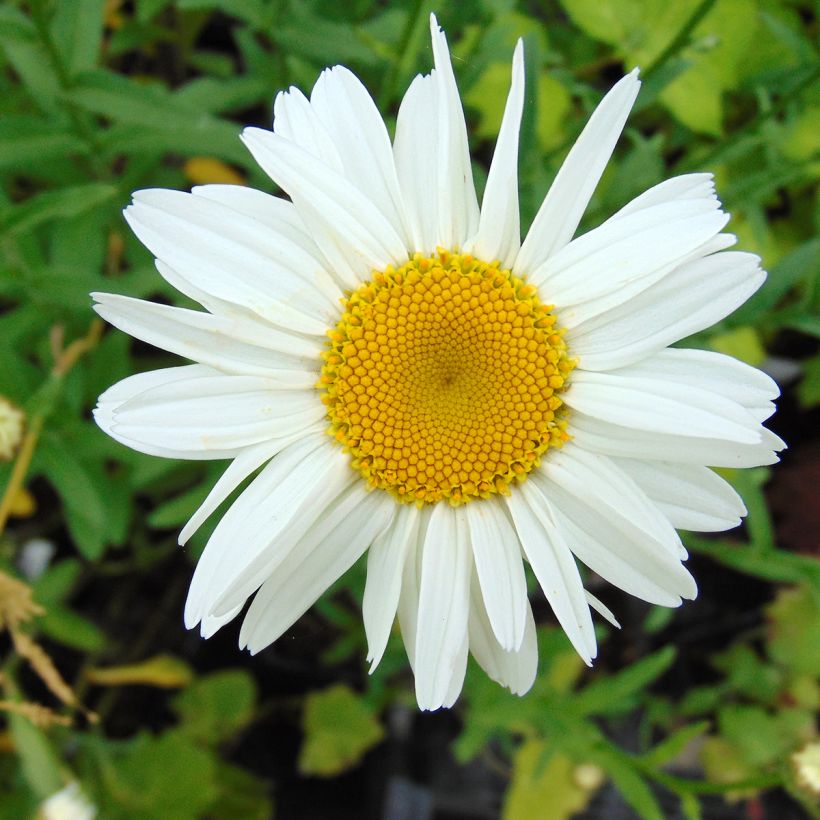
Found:
<svg viewBox="0 0 820 820"><path fill-rule="evenodd" d="M589 578L623 628L600 627L587 669L533 587L534 689L471 666L453 710L420 714L398 635L367 675L361 564L255 658L238 622L185 631L208 532L185 550L176 535L224 465L95 427L102 390L177 360L103 328L88 294L182 304L122 219L131 192L274 191L238 134L335 63L392 128L432 64L431 10L479 192L525 38L524 227L602 94L641 67L582 227L670 175L715 175L770 273L687 344L778 380L789 450L722 471L749 517L684 534L697 601L655 608ZM0 818L820 817L817 36L811 0L0 5Z"/></svg>

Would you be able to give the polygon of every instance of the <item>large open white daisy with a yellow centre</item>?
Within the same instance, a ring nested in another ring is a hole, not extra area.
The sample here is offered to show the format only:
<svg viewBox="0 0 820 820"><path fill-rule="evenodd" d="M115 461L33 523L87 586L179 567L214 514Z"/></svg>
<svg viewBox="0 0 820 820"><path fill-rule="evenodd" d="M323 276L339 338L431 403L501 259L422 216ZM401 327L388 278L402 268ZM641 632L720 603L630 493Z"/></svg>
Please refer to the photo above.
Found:
<svg viewBox="0 0 820 820"><path fill-rule="evenodd" d="M732 358L670 348L763 282L726 251L706 174L675 177L573 238L638 93L603 99L521 241L519 42L481 207L447 41L394 139L346 68L291 88L243 140L289 200L239 186L140 191L126 210L160 274L203 311L95 294L121 330L194 364L131 376L95 411L122 443L232 459L185 543L210 537L185 621L209 637L250 599L258 652L367 552L372 668L398 615L423 709L454 703L468 652L517 694L536 674L528 562L581 657L596 645L576 559L663 606L694 598L675 528L745 514L709 467L777 460L778 394Z"/></svg>

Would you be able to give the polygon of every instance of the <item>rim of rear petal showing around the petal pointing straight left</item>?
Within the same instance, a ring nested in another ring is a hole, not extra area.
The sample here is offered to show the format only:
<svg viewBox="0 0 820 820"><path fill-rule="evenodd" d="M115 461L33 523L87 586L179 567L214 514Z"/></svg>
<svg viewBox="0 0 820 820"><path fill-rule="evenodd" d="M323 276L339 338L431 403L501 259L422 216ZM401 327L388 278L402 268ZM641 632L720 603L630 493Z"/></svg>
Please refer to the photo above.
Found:
<svg viewBox="0 0 820 820"><path fill-rule="evenodd" d="M97 407L94 409L94 420L100 428L112 438L125 444L126 447L130 447L132 450L148 453L148 455L161 456L162 458L185 458L194 460L233 458L238 455L241 448L226 447L219 449L213 447L199 450L184 450L173 445L163 446L155 444L150 440L144 440L143 437L139 435L139 431L136 431L137 437L131 437L115 429L116 413L119 408L146 391L154 390L165 385L185 384L194 379L218 375L219 372L210 367L192 364L183 367L167 367L161 370L151 370L148 373L138 373L135 376L129 376L109 387L108 390L100 396L97 400Z"/></svg>

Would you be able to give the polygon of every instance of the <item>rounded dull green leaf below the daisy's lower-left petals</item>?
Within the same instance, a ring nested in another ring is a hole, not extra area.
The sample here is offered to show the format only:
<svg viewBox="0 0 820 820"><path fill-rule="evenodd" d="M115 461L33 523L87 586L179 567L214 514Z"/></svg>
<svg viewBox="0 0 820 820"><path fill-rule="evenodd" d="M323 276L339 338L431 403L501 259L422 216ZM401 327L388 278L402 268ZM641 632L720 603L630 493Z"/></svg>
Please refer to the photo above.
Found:
<svg viewBox="0 0 820 820"><path fill-rule="evenodd" d="M225 740L253 717L256 686L248 672L229 669L195 680L173 701L182 730L198 742Z"/></svg>

